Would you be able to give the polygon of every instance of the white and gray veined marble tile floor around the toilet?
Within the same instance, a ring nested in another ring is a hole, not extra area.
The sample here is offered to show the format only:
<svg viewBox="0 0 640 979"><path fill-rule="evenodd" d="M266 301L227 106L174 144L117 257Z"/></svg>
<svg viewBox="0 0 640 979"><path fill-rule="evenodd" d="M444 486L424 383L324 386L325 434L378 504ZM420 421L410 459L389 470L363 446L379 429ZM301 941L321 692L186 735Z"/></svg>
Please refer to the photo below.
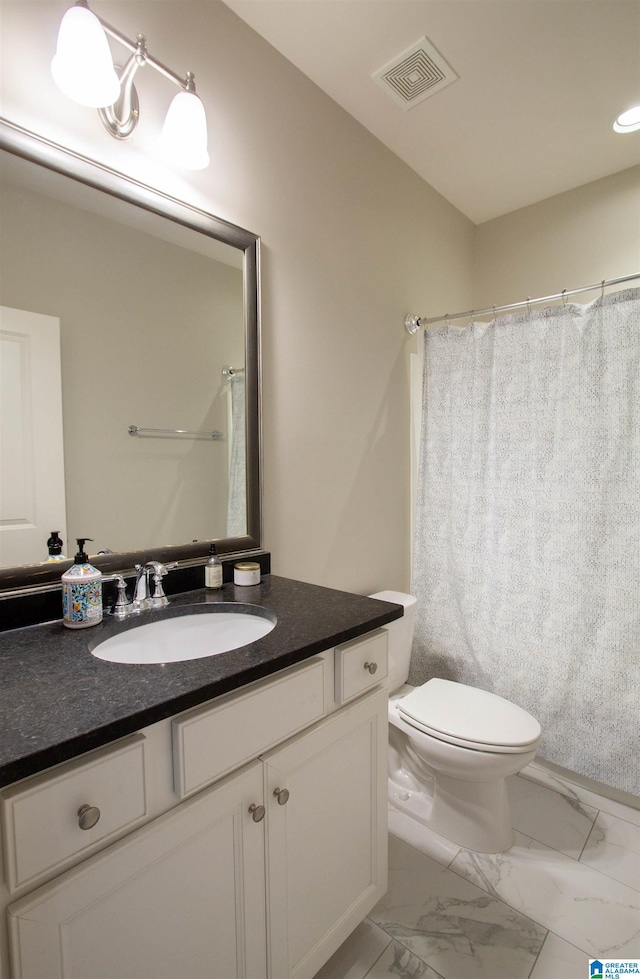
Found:
<svg viewBox="0 0 640 979"><path fill-rule="evenodd" d="M588 979L640 959L640 811L529 766L515 843L464 850L389 811L389 889L315 979Z"/></svg>

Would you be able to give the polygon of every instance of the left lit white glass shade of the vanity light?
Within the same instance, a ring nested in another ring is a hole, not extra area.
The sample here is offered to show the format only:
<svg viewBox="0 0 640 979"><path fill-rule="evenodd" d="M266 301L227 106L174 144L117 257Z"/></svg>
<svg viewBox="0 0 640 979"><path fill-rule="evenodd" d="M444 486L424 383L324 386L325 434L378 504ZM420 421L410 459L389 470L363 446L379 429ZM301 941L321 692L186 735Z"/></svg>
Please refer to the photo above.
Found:
<svg viewBox="0 0 640 979"><path fill-rule="evenodd" d="M58 88L80 105L104 108L120 95L106 34L87 7L70 7L62 18L51 74Z"/></svg>

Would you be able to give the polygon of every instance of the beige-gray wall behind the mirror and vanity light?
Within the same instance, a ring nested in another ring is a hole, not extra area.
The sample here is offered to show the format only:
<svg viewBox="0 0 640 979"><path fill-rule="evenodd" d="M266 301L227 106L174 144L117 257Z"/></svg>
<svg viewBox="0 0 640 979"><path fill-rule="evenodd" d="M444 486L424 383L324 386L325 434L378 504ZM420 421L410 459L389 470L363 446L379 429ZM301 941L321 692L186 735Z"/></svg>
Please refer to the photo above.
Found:
<svg viewBox="0 0 640 979"><path fill-rule="evenodd" d="M56 89L66 0L2 2L3 114L261 235L264 543L280 574L367 593L409 585L410 310L467 308L474 226L218 0L100 3L196 75L211 166L156 139L173 86L150 69L113 140ZM121 49L120 49L121 50Z"/></svg>

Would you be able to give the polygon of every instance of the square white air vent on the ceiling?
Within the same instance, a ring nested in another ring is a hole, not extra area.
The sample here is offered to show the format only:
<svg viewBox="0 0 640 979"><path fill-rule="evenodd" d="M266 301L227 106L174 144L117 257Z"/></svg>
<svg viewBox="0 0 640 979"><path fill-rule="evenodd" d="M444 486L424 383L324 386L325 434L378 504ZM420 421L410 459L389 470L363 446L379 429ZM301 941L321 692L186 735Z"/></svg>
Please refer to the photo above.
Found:
<svg viewBox="0 0 640 979"><path fill-rule="evenodd" d="M458 77L431 41L423 37L371 76L403 109L435 95Z"/></svg>

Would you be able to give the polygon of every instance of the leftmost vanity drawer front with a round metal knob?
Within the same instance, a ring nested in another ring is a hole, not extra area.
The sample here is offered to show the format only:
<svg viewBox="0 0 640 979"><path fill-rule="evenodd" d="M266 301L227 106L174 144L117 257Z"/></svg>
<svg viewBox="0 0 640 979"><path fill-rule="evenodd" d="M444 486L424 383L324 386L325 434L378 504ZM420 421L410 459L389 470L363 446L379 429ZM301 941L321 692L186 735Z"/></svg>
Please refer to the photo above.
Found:
<svg viewBox="0 0 640 979"><path fill-rule="evenodd" d="M134 734L0 793L9 891L105 846L147 811L145 739ZM80 828L79 810L97 822Z"/></svg>

